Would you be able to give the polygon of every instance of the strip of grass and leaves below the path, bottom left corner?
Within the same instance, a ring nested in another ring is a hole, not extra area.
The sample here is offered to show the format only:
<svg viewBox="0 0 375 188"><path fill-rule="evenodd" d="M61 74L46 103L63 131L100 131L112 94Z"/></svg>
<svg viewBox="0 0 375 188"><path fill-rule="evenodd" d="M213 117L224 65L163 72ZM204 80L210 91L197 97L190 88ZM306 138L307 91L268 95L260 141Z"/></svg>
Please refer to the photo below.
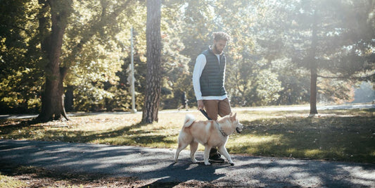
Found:
<svg viewBox="0 0 375 188"><path fill-rule="evenodd" d="M63 173L35 166L19 166L1 163L0 187L141 187L150 184L148 180L136 177L109 177L101 174Z"/></svg>

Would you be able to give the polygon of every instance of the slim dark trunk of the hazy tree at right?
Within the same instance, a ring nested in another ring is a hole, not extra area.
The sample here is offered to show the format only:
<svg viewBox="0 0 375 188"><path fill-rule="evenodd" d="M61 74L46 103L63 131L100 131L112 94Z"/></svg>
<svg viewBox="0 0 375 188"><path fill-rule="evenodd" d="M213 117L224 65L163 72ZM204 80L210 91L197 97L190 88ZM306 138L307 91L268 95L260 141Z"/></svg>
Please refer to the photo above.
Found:
<svg viewBox="0 0 375 188"><path fill-rule="evenodd" d="M317 114L317 60L315 55L317 53L317 12L314 11L314 20L312 23L312 37L310 49L310 115Z"/></svg>

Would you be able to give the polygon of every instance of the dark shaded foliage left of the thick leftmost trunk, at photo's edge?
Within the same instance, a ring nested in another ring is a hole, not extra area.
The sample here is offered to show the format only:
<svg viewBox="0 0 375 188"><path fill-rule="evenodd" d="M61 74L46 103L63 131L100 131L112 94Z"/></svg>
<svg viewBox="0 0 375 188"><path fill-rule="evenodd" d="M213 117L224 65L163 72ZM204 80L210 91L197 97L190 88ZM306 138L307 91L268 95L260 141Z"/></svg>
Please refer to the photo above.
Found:
<svg viewBox="0 0 375 188"><path fill-rule="evenodd" d="M37 29L37 1L4 1L0 5L0 113L35 112L40 107L41 56L33 30Z"/></svg>

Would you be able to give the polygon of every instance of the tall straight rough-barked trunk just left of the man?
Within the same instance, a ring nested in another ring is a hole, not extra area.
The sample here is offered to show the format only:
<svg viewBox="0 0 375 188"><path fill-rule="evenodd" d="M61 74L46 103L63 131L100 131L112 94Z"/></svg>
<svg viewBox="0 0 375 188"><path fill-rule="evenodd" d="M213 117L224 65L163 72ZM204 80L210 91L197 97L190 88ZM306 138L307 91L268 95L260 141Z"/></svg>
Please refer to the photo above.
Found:
<svg viewBox="0 0 375 188"><path fill-rule="evenodd" d="M158 121L158 109L160 105L160 0L147 0L146 21L146 48L147 48L147 75L146 94L142 114L143 123Z"/></svg>

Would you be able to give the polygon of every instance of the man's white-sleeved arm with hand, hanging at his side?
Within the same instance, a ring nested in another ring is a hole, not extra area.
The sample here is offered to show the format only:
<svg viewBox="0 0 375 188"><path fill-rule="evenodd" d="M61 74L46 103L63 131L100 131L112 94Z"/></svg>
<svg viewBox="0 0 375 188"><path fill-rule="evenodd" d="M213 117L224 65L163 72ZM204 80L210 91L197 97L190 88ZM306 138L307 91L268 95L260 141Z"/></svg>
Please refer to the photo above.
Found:
<svg viewBox="0 0 375 188"><path fill-rule="evenodd" d="M198 101L198 110L203 109L203 98L201 92L201 83L199 82L203 69L205 68L205 55L201 54L196 58L196 65L193 70L193 88L196 94L196 100Z"/></svg>

